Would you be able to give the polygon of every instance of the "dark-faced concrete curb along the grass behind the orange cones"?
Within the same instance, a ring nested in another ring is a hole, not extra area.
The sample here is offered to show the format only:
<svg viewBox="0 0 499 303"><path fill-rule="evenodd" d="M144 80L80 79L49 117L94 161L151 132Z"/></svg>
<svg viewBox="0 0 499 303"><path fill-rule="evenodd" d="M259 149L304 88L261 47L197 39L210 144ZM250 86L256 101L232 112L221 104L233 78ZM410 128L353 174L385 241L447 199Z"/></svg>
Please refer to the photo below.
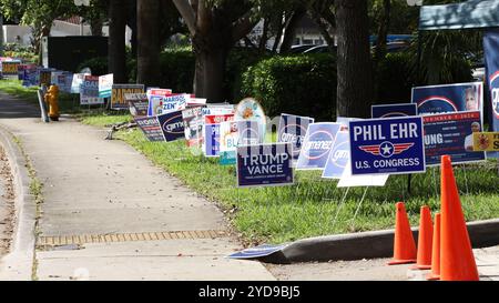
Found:
<svg viewBox="0 0 499 303"><path fill-rule="evenodd" d="M468 233L473 249L499 244L499 219L470 222ZM415 240L418 229L413 229ZM395 230L309 238L291 243L279 252L261 259L266 263L349 261L390 257Z"/></svg>

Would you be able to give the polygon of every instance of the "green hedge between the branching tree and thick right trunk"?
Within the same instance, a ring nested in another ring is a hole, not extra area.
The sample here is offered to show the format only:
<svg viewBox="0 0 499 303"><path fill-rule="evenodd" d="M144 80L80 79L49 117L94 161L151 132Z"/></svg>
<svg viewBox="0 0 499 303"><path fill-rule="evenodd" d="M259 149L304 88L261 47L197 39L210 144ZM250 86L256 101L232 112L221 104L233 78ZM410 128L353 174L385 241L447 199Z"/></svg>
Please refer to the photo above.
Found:
<svg viewBox="0 0 499 303"><path fill-rule="evenodd" d="M336 59L332 54L273 57L243 74L242 92L268 117L283 112L330 121L336 112Z"/></svg>

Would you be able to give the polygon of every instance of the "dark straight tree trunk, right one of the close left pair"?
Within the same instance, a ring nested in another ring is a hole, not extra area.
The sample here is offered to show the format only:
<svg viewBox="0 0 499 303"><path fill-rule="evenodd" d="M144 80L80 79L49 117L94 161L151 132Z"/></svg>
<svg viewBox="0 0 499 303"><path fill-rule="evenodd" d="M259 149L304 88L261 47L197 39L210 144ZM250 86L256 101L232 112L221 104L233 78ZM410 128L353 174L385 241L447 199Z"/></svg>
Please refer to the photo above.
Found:
<svg viewBox="0 0 499 303"><path fill-rule="evenodd" d="M160 1L138 0L138 83L160 85Z"/></svg>

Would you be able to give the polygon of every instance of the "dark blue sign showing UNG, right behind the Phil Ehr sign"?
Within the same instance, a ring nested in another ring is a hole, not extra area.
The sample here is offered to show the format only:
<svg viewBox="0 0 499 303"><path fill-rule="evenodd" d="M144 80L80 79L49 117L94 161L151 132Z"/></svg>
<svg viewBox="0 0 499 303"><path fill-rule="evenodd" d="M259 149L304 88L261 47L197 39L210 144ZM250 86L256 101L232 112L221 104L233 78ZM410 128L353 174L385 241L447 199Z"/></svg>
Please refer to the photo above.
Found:
<svg viewBox="0 0 499 303"><path fill-rule="evenodd" d="M473 152L473 133L481 131L480 112L457 112L424 117L427 165L439 165L448 154L452 163L486 160L485 152Z"/></svg>

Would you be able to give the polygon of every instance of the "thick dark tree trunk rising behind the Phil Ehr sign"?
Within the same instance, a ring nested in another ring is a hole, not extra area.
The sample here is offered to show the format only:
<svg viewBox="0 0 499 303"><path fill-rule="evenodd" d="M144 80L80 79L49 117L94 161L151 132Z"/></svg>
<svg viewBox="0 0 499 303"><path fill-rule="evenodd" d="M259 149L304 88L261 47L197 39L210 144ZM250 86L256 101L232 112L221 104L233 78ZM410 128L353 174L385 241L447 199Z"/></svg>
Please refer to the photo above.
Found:
<svg viewBox="0 0 499 303"><path fill-rule="evenodd" d="M367 0L336 0L337 114L368 118L373 98Z"/></svg>

